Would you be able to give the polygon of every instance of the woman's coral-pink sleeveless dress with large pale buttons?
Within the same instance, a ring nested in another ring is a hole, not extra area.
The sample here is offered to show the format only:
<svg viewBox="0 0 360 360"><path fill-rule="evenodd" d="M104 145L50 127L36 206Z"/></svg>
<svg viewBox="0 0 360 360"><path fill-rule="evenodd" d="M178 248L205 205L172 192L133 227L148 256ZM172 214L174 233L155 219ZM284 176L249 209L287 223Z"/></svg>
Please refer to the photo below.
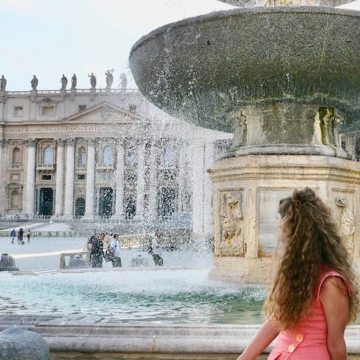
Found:
<svg viewBox="0 0 360 360"><path fill-rule="evenodd" d="M316 292L311 302L311 316L301 322L296 330L281 331L267 360L331 360L327 351L327 325L319 299L323 281L328 276L341 277L350 294L350 286L337 271L321 272Z"/></svg>

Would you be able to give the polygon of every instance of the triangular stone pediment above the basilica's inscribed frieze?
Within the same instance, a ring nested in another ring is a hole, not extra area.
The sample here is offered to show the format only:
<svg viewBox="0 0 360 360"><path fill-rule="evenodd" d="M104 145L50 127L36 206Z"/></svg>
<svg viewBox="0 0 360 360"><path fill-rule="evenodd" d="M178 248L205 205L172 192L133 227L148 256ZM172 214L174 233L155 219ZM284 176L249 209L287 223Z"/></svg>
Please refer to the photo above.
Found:
<svg viewBox="0 0 360 360"><path fill-rule="evenodd" d="M123 109L113 105L107 101L100 102L96 105L88 107L82 111L78 111L73 115L65 117L61 122L75 123L126 123L141 122L143 119L137 114L133 107Z"/></svg>

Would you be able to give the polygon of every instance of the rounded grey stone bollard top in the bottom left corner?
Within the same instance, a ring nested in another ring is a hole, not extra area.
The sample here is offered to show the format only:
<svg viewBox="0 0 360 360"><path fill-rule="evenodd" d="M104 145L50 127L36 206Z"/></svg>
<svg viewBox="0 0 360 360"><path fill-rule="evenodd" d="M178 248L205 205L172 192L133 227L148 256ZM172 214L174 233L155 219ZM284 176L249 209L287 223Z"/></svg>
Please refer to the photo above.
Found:
<svg viewBox="0 0 360 360"><path fill-rule="evenodd" d="M0 332L0 360L50 360L50 349L37 333L13 326Z"/></svg>

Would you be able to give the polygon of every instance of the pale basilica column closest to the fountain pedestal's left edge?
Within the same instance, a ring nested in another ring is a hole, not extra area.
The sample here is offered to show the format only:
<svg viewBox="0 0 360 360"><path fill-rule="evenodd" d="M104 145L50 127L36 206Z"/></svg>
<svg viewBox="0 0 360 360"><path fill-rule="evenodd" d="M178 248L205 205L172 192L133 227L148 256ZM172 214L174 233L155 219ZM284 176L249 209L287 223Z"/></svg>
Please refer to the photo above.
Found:
<svg viewBox="0 0 360 360"><path fill-rule="evenodd" d="M203 231L205 234L212 234L212 181L207 169L211 169L214 165L214 145L213 142L205 144L205 163L203 177Z"/></svg>

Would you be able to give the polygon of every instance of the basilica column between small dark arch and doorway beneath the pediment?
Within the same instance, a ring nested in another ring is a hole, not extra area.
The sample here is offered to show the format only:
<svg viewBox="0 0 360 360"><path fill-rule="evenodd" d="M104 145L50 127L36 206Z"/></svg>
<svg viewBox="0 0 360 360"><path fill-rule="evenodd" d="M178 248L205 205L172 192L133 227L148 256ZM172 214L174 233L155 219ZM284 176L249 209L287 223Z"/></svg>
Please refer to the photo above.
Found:
<svg viewBox="0 0 360 360"><path fill-rule="evenodd" d="M95 198L95 139L87 140L87 159L86 159L86 201L85 215L83 218L92 219L94 215Z"/></svg>

